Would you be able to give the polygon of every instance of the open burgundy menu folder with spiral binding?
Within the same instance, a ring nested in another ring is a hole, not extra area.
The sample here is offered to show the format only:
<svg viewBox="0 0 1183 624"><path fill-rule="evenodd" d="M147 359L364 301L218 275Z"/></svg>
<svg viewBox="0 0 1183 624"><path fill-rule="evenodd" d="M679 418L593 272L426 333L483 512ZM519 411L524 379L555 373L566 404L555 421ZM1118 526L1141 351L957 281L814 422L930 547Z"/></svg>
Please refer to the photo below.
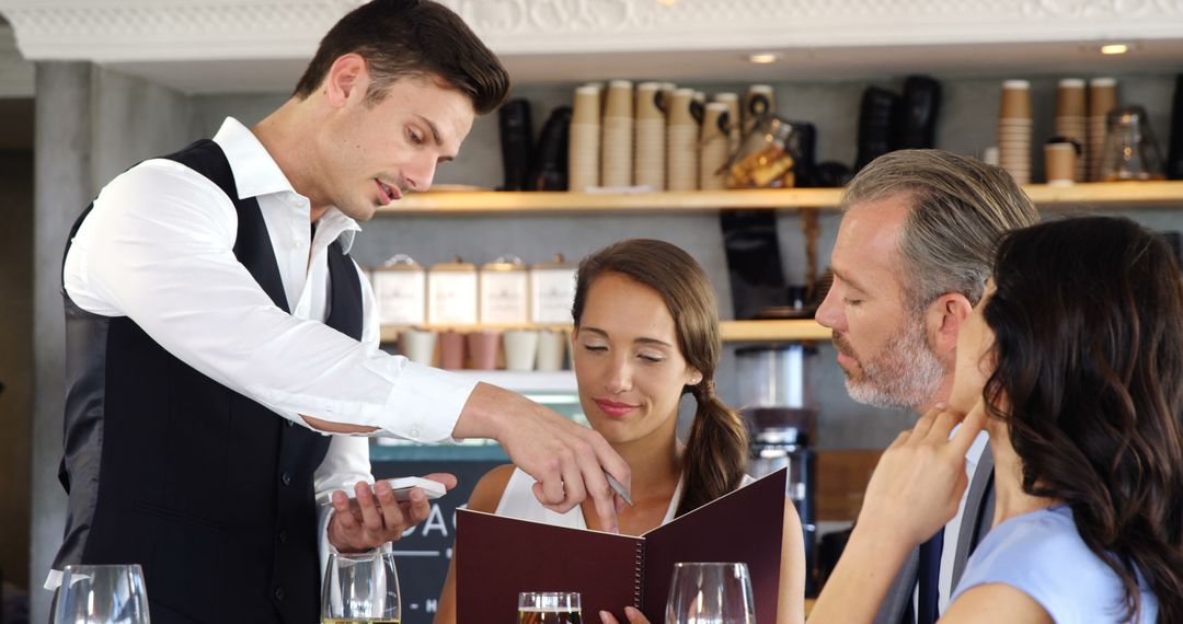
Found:
<svg viewBox="0 0 1183 624"><path fill-rule="evenodd" d="M664 622L674 563L742 561L756 622L776 622L784 482L782 469L640 537L458 509L458 620L509 624L518 592L576 591L584 622L601 610L625 622L628 605Z"/></svg>

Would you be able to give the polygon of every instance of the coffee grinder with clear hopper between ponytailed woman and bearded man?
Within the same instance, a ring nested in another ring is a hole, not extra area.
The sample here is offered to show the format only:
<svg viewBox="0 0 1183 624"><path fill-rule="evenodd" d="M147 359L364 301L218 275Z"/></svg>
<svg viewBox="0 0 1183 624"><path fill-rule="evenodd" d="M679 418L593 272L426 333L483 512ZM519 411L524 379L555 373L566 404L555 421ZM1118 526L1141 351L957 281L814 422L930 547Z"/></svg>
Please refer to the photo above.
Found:
<svg viewBox="0 0 1183 624"><path fill-rule="evenodd" d="M804 529L806 594L816 594L816 511L813 440L817 408L813 401L816 347L806 343L736 350L739 405L751 431L748 474L759 479L788 468L788 496Z"/></svg>

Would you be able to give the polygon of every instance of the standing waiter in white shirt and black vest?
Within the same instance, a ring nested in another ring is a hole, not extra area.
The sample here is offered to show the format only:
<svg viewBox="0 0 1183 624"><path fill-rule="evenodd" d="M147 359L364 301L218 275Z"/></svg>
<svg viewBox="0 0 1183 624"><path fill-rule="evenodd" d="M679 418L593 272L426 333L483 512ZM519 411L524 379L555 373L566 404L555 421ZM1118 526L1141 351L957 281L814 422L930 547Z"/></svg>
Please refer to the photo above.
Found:
<svg viewBox="0 0 1183 624"><path fill-rule="evenodd" d="M69 564L137 563L156 624L316 620L322 547L379 547L428 512L421 492L370 488L364 437L324 434L491 437L541 501L592 496L615 526L603 470L629 472L603 438L380 351L348 255L357 223L427 190L508 91L450 9L375 0L258 125L227 118L102 190L65 253L70 500L47 587Z"/></svg>

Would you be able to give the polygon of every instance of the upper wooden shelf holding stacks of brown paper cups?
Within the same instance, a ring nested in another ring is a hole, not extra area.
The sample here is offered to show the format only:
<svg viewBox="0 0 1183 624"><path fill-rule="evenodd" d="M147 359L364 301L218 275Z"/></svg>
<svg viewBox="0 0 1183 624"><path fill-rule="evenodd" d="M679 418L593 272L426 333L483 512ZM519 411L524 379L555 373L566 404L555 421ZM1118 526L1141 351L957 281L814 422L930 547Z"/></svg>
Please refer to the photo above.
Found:
<svg viewBox="0 0 1183 624"><path fill-rule="evenodd" d="M1075 207L1181 208L1183 182L1091 182L1071 187L1029 184L1023 190L1046 209ZM661 193L424 193L379 209L379 215L696 213L719 209L838 208L842 189L696 190Z"/></svg>

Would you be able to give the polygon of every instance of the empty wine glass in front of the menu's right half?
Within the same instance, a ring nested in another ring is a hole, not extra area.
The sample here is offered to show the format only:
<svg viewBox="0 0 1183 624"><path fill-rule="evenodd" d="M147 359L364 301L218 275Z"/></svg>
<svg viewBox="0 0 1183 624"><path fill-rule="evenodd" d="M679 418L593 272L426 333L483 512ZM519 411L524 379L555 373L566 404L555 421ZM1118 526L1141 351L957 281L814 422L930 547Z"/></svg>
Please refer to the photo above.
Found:
<svg viewBox="0 0 1183 624"><path fill-rule="evenodd" d="M666 624L755 624L745 564L674 564Z"/></svg>

